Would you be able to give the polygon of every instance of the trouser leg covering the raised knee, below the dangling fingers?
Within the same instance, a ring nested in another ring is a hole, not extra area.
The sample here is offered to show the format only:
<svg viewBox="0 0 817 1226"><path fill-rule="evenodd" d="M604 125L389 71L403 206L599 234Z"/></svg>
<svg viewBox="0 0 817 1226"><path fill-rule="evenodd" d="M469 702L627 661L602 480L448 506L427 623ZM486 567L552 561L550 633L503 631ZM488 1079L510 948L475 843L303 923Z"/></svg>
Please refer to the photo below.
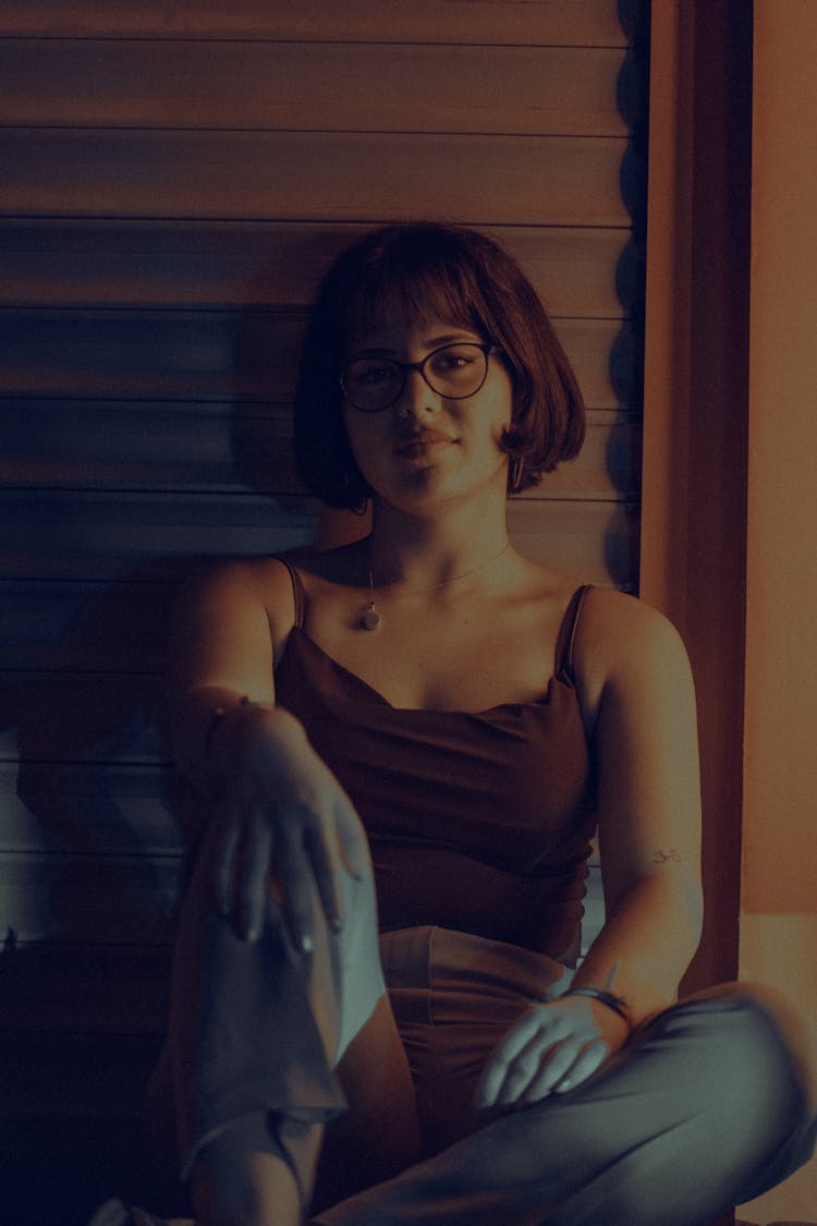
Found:
<svg viewBox="0 0 817 1226"><path fill-rule="evenodd" d="M336 1067L385 993L371 873L343 874L345 923L331 933L314 897L314 951L296 953L267 900L257 942L239 940L214 906L206 836L179 917L169 1063L183 1178L208 1140L277 1114L322 1123L347 1098Z"/></svg>

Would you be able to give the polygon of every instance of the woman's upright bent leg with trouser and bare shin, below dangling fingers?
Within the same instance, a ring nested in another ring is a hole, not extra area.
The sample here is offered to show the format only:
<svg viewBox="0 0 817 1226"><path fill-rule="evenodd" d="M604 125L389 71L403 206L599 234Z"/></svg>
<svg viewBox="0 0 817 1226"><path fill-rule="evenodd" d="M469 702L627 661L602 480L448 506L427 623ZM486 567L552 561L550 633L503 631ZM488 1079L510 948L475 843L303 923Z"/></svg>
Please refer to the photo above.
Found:
<svg viewBox="0 0 817 1226"><path fill-rule="evenodd" d="M374 885L344 875L339 935L316 897L315 948L303 956L273 896L262 937L235 937L213 907L208 851L185 895L174 962L183 1176L201 1226L283 1226L300 1221L322 1127L347 1106L334 1067L385 992Z"/></svg>

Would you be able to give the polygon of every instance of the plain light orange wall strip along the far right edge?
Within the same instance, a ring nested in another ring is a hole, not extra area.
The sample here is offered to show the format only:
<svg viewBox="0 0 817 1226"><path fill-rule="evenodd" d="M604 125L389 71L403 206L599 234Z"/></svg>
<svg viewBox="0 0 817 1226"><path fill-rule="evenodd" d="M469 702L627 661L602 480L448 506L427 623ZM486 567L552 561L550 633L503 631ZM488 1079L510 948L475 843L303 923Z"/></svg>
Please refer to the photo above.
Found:
<svg viewBox="0 0 817 1226"><path fill-rule="evenodd" d="M817 1030L817 5L753 43L740 969ZM741 1214L817 1222L817 1161Z"/></svg>

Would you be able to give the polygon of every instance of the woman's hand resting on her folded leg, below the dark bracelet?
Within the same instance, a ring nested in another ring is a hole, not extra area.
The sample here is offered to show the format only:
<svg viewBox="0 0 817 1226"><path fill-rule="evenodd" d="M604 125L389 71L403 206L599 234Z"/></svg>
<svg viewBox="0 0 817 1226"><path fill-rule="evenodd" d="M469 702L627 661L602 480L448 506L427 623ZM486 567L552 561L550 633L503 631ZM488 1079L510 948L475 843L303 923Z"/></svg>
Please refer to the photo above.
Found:
<svg viewBox="0 0 817 1226"><path fill-rule="evenodd" d="M478 1107L525 1107L587 1080L623 1047L627 1022L590 997L533 1005L491 1053L476 1090Z"/></svg>

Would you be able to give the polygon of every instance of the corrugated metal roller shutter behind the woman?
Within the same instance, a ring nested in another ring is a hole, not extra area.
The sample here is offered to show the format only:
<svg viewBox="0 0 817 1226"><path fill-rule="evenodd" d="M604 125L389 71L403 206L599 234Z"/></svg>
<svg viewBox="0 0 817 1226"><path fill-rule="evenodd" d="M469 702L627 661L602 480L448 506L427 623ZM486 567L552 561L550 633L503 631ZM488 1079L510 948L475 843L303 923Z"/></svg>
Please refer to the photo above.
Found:
<svg viewBox="0 0 817 1226"><path fill-rule="evenodd" d="M0 6L0 922L17 959L48 962L45 942L102 973L110 946L136 967L168 940L167 611L202 559L311 537L294 363L318 275L361 229L447 217L519 256L590 412L577 463L513 500L512 535L636 585L627 7ZM73 1030L120 1027L67 972L65 1000ZM130 1030L159 1030L160 994L138 1000Z"/></svg>

